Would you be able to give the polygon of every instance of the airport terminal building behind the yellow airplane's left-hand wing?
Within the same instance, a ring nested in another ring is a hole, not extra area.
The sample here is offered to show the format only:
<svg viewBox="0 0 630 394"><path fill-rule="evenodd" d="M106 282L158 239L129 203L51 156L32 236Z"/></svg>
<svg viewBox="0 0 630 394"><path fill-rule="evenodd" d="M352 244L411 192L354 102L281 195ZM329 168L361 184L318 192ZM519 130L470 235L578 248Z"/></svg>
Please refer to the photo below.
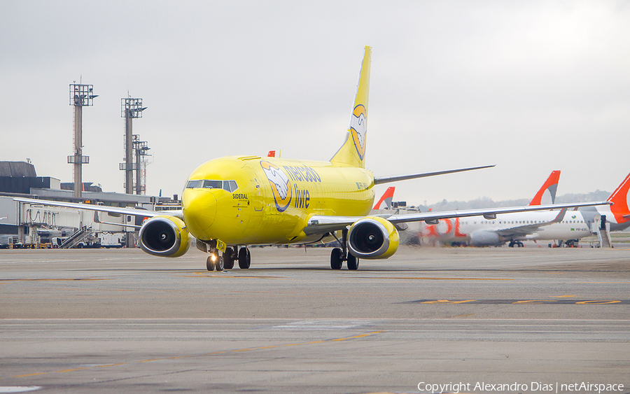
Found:
<svg viewBox="0 0 630 394"><path fill-rule="evenodd" d="M134 246L137 229L124 225L139 225L136 222L142 220L135 216L101 214L99 217L81 209L20 203L13 200L15 197L150 210L181 207L176 197L103 192L99 186L83 183L82 197L77 198L72 188L72 183L37 176L35 167L28 162L0 162L0 248L62 244L63 247Z"/></svg>

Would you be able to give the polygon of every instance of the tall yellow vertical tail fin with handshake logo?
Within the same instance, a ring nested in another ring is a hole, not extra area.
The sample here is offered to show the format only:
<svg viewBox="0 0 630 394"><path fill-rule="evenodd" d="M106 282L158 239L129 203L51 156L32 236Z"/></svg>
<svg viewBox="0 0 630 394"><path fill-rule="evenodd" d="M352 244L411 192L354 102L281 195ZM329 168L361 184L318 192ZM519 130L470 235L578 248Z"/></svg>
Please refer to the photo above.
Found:
<svg viewBox="0 0 630 394"><path fill-rule="evenodd" d="M365 46L365 55L361 63L361 71L356 86L356 98L350 116L350 125L346 140L330 162L350 164L353 167L365 168L365 139L367 137L367 96L370 92L370 61L372 48Z"/></svg>

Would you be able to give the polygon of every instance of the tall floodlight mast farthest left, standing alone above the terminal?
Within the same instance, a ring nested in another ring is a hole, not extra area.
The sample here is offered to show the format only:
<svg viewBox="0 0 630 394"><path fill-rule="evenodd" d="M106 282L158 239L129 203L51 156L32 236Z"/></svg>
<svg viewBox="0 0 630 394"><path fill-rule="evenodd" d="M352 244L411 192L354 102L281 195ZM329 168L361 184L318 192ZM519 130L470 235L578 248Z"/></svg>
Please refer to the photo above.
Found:
<svg viewBox="0 0 630 394"><path fill-rule="evenodd" d="M92 106L94 97L93 85L80 83L70 84L70 105L74 106L74 155L68 156L68 163L74 169L74 197L81 198L83 190L83 164L90 163L90 157L83 155L83 107Z"/></svg>

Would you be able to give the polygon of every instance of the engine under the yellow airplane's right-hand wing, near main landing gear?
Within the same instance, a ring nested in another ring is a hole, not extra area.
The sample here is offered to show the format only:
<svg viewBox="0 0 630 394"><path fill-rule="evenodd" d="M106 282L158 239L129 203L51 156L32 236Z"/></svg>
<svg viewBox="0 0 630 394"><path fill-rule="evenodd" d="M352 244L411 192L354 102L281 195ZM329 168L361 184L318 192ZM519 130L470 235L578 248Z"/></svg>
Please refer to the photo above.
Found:
<svg viewBox="0 0 630 394"><path fill-rule="evenodd" d="M350 253L358 258L388 258L398 250L398 230L384 218L357 220L348 232Z"/></svg>

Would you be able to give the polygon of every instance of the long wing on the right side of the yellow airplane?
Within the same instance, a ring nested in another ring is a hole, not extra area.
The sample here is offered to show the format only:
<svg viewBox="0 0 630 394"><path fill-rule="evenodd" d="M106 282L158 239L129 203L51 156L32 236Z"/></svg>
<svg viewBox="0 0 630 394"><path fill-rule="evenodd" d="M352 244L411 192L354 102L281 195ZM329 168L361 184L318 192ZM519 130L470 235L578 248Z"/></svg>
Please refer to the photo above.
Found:
<svg viewBox="0 0 630 394"><path fill-rule="evenodd" d="M484 209L467 209L463 211L443 211L443 212L419 212L405 213L404 215L374 215L384 218L394 225L409 222L426 221L432 223L440 219L465 218L469 216L484 216L486 219L494 219L500 213L527 212L527 211L549 211L552 209L568 209L579 208L582 206L610 205L608 201L599 202L575 202L569 204L547 204L547 205L528 205L528 206L510 206L505 208L484 208ZM309 218L307 227L304 227L304 233L307 235L324 234L343 230L346 226L352 225L364 216L324 216L315 215ZM557 220L557 217L556 219ZM561 220L561 219L560 219ZM549 223L550 224L550 223Z"/></svg>

